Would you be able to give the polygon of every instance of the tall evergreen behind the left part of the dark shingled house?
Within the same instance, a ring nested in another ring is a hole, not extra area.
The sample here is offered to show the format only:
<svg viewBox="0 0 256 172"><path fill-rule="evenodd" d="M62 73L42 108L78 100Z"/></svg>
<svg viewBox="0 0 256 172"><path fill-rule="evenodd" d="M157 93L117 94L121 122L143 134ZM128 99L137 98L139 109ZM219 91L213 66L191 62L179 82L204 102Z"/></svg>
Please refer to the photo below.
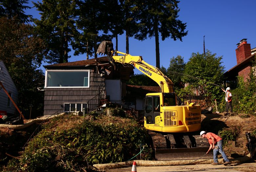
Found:
<svg viewBox="0 0 256 172"><path fill-rule="evenodd" d="M41 18L34 19L41 38L48 43L49 63L68 62L70 45L78 37L76 0L43 0L33 3Z"/></svg>

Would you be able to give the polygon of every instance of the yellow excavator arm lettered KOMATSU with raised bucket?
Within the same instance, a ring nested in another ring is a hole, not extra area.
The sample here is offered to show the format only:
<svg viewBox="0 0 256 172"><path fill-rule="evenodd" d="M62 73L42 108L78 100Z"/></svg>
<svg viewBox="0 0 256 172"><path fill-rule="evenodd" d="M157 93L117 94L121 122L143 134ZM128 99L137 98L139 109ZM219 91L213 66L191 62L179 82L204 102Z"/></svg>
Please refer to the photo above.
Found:
<svg viewBox="0 0 256 172"><path fill-rule="evenodd" d="M97 53L106 54L110 63L115 67L114 62L123 65L133 65L146 76L153 79L161 88L162 93L172 93L173 82L165 76L158 68L146 63L141 56L133 56L113 50L113 43L110 41L103 41L99 45ZM121 55L118 55L121 54Z"/></svg>

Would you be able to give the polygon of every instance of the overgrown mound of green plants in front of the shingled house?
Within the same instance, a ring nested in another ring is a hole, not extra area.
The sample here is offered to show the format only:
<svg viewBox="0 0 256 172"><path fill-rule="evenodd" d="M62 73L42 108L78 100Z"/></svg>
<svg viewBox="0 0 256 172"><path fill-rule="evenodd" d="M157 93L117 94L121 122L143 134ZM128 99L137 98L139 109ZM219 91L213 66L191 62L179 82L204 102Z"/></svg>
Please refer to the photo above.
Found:
<svg viewBox="0 0 256 172"><path fill-rule="evenodd" d="M106 115L88 119L70 115L54 118L30 142L22 159L9 162L5 171L92 171L92 164L133 158L142 145L141 158L152 158L149 136L134 119Z"/></svg>

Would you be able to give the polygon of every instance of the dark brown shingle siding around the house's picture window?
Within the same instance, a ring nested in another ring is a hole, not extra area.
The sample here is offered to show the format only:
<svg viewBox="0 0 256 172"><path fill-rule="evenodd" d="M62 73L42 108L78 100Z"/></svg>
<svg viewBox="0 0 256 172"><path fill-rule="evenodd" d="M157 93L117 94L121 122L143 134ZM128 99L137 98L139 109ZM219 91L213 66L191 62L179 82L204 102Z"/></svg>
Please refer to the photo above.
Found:
<svg viewBox="0 0 256 172"><path fill-rule="evenodd" d="M87 68L88 70L88 68ZM96 70L90 70L89 88L45 88L44 115L52 115L62 108L64 103L86 103L98 95L98 91L105 90L105 79L97 74ZM89 104L89 109L95 107L97 102ZM63 110L58 113L62 113Z"/></svg>

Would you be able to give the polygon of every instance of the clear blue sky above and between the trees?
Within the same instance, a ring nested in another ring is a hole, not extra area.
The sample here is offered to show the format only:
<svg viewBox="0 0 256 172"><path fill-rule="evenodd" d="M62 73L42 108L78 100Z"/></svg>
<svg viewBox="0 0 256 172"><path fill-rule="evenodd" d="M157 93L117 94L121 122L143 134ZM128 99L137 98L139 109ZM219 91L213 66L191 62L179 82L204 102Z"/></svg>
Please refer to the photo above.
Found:
<svg viewBox="0 0 256 172"><path fill-rule="evenodd" d="M187 62L192 53L203 53L203 36L205 49L223 56L222 65L225 70L237 64L235 49L241 39L247 39L251 48L256 47L255 0L181 0L178 6L179 19L187 23L188 35L182 38L182 42L171 38L160 40L160 66L167 69L170 58L177 55L184 57L184 62ZM40 18L34 8L26 13ZM118 37L118 51L125 52L125 35ZM130 38L129 53L141 55L143 60L155 66L155 38L144 41ZM69 62L86 59L86 54L74 56L70 52L69 55L72 56ZM135 70L135 73L140 72Z"/></svg>

